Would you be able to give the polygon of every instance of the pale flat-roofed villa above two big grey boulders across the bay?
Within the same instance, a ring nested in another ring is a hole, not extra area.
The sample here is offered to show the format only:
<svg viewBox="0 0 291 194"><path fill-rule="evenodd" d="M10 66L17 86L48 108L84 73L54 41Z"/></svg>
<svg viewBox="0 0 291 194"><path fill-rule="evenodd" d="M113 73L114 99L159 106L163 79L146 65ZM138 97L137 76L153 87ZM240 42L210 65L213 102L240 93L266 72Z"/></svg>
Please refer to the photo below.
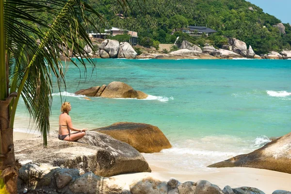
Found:
<svg viewBox="0 0 291 194"><path fill-rule="evenodd" d="M91 33L91 34L92 34L93 38L105 39L106 36L108 36L108 35L116 36L116 35L125 34L125 33L130 35L129 43L132 46L136 46L138 36L137 36L137 32L134 32L134 31L129 31L129 30L124 30L124 29L112 27L112 29L108 29L108 30L105 29L104 33Z"/></svg>

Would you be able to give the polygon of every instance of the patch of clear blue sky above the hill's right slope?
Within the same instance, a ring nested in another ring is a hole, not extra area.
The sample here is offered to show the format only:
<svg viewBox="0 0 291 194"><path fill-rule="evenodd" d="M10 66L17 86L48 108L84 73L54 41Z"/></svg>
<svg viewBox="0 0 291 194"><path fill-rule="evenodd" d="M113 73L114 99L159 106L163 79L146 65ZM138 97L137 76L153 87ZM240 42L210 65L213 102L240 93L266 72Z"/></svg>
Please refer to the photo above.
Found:
<svg viewBox="0 0 291 194"><path fill-rule="evenodd" d="M291 0L246 0L277 17L283 23L291 24Z"/></svg>

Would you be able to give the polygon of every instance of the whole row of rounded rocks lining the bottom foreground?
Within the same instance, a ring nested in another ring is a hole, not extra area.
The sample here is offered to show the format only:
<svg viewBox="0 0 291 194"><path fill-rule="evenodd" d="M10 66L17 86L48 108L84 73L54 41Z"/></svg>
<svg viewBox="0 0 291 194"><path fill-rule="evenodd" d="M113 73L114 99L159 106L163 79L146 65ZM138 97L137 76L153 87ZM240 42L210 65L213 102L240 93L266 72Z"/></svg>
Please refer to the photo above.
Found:
<svg viewBox="0 0 291 194"><path fill-rule="evenodd" d="M93 172L81 174L77 169L47 166L47 169L42 167L43 171L39 171L39 169L35 170L39 165L35 165L35 168L31 166L31 164L26 164L19 169L20 172L26 171L26 175L19 174L18 193L23 193L25 188L29 192L42 189L51 194L264 194L259 189L252 187L232 189L226 186L224 190L221 190L206 180L181 183L176 178L170 178L166 182L146 177L126 182L126 180L97 176ZM42 175L40 176L40 174ZM42 178L49 181L41 184ZM32 187L32 185L37 186ZM277 190L273 194L289 193Z"/></svg>

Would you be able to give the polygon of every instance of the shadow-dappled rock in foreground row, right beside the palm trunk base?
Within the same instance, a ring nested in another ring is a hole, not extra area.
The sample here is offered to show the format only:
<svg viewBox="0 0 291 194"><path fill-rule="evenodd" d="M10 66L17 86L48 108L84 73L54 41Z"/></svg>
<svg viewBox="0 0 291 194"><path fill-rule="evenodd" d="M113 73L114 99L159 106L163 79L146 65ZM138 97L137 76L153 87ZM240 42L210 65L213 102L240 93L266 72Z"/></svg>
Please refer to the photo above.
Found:
<svg viewBox="0 0 291 194"><path fill-rule="evenodd" d="M26 141L25 141L26 142ZM42 141L39 141L42 144ZM27 144L27 142L26 142ZM28 146L31 146L29 144ZM41 146L42 147L42 146ZM50 180L59 167L50 164L26 164L19 169L18 177L27 184L28 188L36 189L49 186Z"/></svg>

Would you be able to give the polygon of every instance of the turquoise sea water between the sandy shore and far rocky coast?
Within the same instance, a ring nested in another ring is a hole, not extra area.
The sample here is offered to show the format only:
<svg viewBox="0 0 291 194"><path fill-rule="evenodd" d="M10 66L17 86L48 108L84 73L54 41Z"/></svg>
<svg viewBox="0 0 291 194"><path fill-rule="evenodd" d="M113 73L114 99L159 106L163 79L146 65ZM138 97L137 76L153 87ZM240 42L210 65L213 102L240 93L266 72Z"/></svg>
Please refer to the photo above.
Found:
<svg viewBox="0 0 291 194"><path fill-rule="evenodd" d="M64 63L64 84L53 79L50 129L58 129L61 103L69 101L74 127L95 129L115 122L157 126L173 146L143 154L157 167L215 172L207 166L264 146L291 132L291 60L94 59ZM74 92L122 81L146 99L90 97ZM34 133L22 99L15 131Z"/></svg>

